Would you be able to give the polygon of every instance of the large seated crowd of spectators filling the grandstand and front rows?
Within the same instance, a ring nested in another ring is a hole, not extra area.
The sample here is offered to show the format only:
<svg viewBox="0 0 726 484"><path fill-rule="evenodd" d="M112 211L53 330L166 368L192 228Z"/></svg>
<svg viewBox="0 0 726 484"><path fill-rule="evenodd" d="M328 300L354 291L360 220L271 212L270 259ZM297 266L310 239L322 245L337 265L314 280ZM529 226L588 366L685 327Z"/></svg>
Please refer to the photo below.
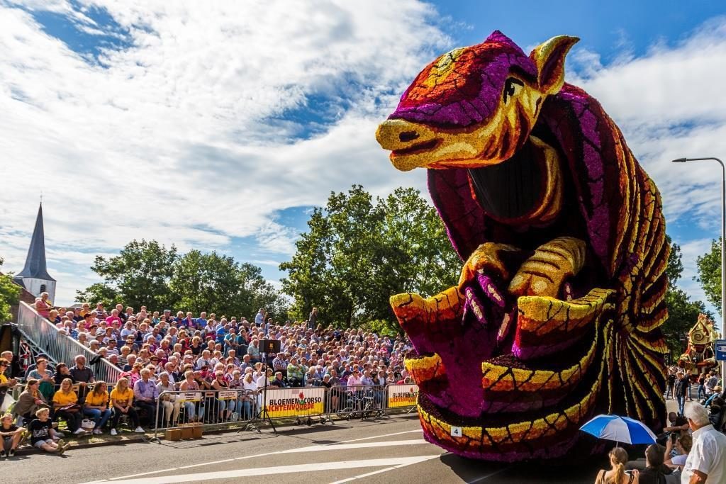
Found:
<svg viewBox="0 0 726 484"><path fill-rule="evenodd" d="M337 387L332 393L338 404L338 392L346 385L411 381L404 367L404 355L411 348L407 339L324 327L317 310L307 321L280 323L264 308L252 321L205 312L150 312L144 306L134 311L121 304L110 310L102 303L95 308L83 303L68 310L46 305L37 309L46 312L59 332L95 353L91 363L105 358L121 369L121 377L115 382L97 381L83 355L54 369L39 358L23 375L25 390L13 410L19 425L47 409L50 420L64 420L74 434L117 435L121 419L136 432L144 432L143 425L174 426L181 419L250 419L258 411L256 395L265 385ZM262 340L278 340L280 352L263 353ZM206 397L201 402L179 401L175 394L234 389L247 391L231 401ZM157 407L160 422L153 421ZM92 428L82 426L84 419L93 422ZM55 432L46 440L57 440L59 435L63 436ZM46 450L53 451L51 447L48 443Z"/></svg>

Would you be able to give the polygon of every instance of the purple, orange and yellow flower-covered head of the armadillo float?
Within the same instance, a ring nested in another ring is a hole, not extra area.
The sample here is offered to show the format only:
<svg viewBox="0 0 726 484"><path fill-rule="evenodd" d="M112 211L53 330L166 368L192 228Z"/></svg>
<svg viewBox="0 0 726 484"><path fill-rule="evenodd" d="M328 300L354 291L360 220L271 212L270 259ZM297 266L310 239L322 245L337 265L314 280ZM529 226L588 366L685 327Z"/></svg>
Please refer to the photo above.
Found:
<svg viewBox="0 0 726 484"><path fill-rule="evenodd" d="M497 30L454 49L417 75L376 139L401 171L502 163L529 138L544 99L562 88L565 56L578 40L558 36L527 57Z"/></svg>

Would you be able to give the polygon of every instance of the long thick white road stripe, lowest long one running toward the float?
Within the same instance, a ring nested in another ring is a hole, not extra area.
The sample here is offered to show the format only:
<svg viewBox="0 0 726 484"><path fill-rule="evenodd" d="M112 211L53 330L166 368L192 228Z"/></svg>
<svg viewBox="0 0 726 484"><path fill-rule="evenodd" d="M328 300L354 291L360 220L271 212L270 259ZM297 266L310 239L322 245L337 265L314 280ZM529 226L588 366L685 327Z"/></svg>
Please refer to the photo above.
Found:
<svg viewBox="0 0 726 484"><path fill-rule="evenodd" d="M254 477L260 475L290 474L293 472L318 472L336 469L355 469L357 467L399 467L436 459L433 456L399 457L397 459L367 459L359 461L320 462L318 464L296 464L290 466L255 467L252 469L235 469L227 471L199 472L197 474L166 475L159 477L142 477L140 479L117 480L123 484L171 484L191 483L197 480L230 479L232 477Z"/></svg>

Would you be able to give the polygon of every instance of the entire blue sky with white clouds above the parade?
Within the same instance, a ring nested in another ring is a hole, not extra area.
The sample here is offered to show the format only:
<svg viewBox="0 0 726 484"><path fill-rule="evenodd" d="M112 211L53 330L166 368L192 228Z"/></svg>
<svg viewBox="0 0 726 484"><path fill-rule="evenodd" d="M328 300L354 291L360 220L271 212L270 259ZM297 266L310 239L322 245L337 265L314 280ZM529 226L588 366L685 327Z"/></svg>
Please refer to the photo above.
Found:
<svg viewBox="0 0 726 484"><path fill-rule="evenodd" d="M718 235L719 173L668 160L726 156L726 7L543 5L0 0L0 168L17 180L0 194L4 270L23 266L42 190L61 303L96 282L94 255L134 237L229 253L275 282L331 191L425 189L423 172L393 170L375 126L438 54L499 29L523 49L582 39L568 81L660 187L682 287L703 298L692 277Z"/></svg>

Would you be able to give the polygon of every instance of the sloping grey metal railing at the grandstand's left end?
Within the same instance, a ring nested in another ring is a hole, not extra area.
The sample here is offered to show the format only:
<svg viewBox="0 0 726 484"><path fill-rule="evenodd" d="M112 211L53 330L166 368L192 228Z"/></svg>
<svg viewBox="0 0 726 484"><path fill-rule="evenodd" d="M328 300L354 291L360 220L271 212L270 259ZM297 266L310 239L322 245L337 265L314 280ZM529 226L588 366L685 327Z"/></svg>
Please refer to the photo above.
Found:
<svg viewBox="0 0 726 484"><path fill-rule="evenodd" d="M40 348L56 363L62 362L70 367L76 364L76 356L83 355L86 357L86 364L93 369L96 380L116 382L121 377L121 369L105 359L100 358L91 364L91 359L98 356L96 353L72 337L59 332L54 324L22 301L17 311L17 327L23 333L23 337L30 340L36 348Z"/></svg>

